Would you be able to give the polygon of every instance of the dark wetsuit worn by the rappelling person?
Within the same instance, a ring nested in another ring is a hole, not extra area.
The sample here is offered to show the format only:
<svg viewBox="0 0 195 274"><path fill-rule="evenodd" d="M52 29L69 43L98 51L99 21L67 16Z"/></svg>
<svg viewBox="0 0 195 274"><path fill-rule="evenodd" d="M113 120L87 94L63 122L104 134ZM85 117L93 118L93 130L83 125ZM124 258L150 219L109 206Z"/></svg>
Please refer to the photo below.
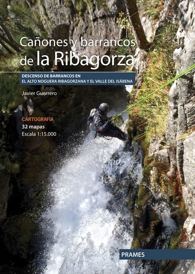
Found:
<svg viewBox="0 0 195 274"><path fill-rule="evenodd" d="M99 136L117 137L120 140L126 140L125 133L116 125L109 121L110 118L99 109L94 115L93 123L96 126Z"/></svg>

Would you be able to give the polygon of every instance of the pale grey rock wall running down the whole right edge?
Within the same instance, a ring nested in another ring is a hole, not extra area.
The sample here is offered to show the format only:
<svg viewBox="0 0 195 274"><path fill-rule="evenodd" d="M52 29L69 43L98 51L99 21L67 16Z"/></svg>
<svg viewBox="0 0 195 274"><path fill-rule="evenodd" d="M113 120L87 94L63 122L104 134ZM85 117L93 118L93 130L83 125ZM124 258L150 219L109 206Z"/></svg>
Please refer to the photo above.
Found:
<svg viewBox="0 0 195 274"><path fill-rule="evenodd" d="M195 64L195 2L181 1L179 4L178 48L174 52L177 73ZM184 242L179 248L195 248L195 72L177 79L169 94L169 118L166 133L171 182L179 177L182 197L188 213L183 225ZM187 137L186 137L187 136ZM186 138L185 138L186 137ZM194 262L182 261L172 273L194 273Z"/></svg>

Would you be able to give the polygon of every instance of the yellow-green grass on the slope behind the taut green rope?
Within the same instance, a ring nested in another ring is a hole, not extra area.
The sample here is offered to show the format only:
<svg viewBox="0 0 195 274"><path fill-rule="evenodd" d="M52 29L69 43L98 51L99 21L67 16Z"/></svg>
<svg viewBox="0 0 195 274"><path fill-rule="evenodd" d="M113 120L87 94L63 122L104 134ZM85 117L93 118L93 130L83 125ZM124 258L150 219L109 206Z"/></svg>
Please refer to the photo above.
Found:
<svg viewBox="0 0 195 274"><path fill-rule="evenodd" d="M144 73L143 83L140 89L136 90L136 101L146 97L175 76L173 61L173 52L176 48L175 35L176 25L173 24L168 24L159 30L154 41L155 49L148 54L148 68ZM146 143L149 143L150 138L155 135L158 135L165 142L169 89L170 85L164 87L139 103L130 113L144 128ZM135 94L131 94L130 97L135 97Z"/></svg>

